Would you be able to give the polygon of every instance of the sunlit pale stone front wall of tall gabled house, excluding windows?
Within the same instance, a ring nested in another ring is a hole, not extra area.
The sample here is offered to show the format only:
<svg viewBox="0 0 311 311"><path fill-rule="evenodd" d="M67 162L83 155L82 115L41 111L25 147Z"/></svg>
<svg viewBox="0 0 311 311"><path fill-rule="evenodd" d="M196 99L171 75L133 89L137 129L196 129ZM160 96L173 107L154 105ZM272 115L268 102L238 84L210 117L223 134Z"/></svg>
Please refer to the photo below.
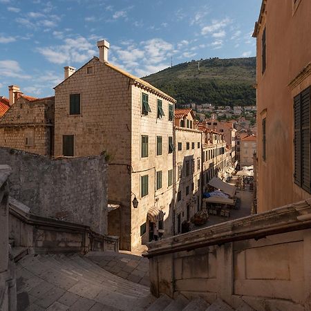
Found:
<svg viewBox="0 0 311 311"><path fill-rule="evenodd" d="M168 184L168 171L173 169L173 152L169 153L169 137L173 138L173 121L169 121L168 100L157 94L132 86L132 131L131 131L131 191L138 199L138 208L131 205L131 243L133 247L149 242L149 220L151 207L162 209L164 236L173 234L173 185ZM142 93L148 94L151 112L142 115ZM158 118L158 99L162 100L164 116ZM148 157L142 158L142 135L148 135ZM157 156L157 136L162 137L162 154ZM156 172L162 171L162 187L156 189ZM141 177L149 176L148 195L141 196ZM131 196L133 200L134 196ZM140 236L140 226L146 223L146 233Z"/></svg>

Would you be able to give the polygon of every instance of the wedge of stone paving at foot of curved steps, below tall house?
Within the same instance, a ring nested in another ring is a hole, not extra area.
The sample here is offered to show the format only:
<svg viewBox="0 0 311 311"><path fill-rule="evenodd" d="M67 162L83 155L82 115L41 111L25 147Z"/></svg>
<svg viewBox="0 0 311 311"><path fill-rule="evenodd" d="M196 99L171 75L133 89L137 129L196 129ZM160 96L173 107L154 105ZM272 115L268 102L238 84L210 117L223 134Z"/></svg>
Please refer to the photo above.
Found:
<svg viewBox="0 0 311 311"><path fill-rule="evenodd" d="M149 260L141 256L146 247L133 252L90 252L86 256L103 269L133 283L149 286Z"/></svg>

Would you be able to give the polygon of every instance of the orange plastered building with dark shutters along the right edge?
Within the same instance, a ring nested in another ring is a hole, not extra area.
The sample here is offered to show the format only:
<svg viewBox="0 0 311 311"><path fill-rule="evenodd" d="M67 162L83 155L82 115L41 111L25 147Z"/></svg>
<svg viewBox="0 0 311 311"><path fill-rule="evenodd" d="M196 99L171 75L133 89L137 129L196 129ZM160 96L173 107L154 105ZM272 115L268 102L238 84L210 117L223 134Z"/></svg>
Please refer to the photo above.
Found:
<svg viewBox="0 0 311 311"><path fill-rule="evenodd" d="M311 1L264 0L254 29L258 212L310 198L310 16Z"/></svg>

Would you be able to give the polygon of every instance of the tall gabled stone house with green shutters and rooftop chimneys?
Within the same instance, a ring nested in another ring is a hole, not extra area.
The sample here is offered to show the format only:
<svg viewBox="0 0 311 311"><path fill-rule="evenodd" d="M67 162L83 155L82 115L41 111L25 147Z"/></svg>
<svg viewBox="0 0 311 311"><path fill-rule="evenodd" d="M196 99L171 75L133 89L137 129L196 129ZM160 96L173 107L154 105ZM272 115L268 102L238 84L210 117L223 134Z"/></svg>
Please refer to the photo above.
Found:
<svg viewBox="0 0 311 311"><path fill-rule="evenodd" d="M107 41L97 46L100 57L75 72L65 68L66 79L55 87L55 156L106 156L108 198L116 207L109 234L132 249L153 238L158 220L164 236L173 232L176 101L110 64Z"/></svg>

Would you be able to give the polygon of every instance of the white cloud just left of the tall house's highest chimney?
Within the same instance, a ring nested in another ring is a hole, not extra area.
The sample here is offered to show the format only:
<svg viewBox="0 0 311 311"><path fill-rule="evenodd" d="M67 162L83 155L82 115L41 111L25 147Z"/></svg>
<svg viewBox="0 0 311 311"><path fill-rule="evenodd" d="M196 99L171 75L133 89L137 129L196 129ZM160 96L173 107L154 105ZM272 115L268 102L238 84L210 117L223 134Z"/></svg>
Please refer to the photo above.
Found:
<svg viewBox="0 0 311 311"><path fill-rule="evenodd" d="M86 38L77 37L64 39L64 44L59 46L37 48L37 51L54 64L82 63L95 55L94 47Z"/></svg>

